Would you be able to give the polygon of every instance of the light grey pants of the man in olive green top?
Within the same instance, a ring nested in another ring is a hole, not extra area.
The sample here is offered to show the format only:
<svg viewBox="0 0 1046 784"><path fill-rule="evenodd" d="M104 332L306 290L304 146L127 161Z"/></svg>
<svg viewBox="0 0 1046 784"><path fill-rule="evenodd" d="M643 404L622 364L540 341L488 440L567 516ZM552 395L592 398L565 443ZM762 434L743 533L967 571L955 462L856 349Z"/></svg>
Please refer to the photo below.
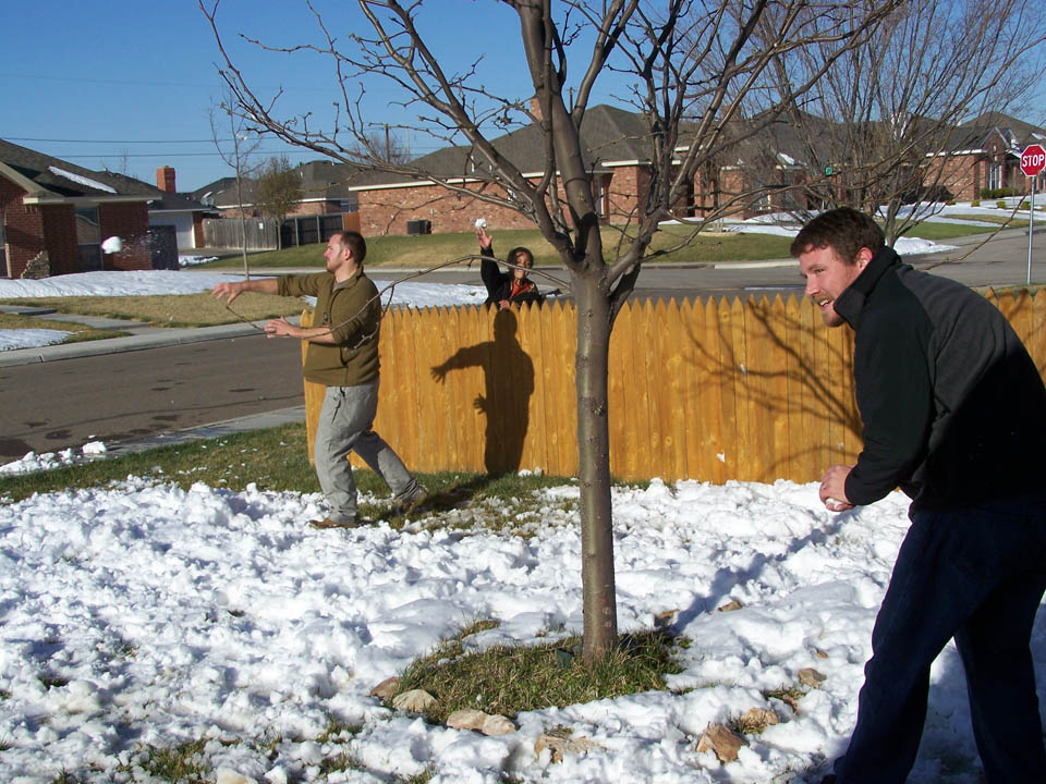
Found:
<svg viewBox="0 0 1046 784"><path fill-rule="evenodd" d="M409 501L421 491L392 448L370 429L377 412L377 379L358 387L328 387L324 395L313 455L329 510L327 516L336 523L356 519L356 483L348 461L350 452L360 455L385 479L397 501Z"/></svg>

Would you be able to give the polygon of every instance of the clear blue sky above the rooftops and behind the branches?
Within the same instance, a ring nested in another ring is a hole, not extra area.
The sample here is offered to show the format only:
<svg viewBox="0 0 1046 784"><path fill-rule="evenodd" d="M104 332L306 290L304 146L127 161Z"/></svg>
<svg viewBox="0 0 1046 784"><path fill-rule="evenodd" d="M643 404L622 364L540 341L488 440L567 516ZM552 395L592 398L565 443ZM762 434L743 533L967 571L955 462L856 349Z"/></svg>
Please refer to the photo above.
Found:
<svg viewBox="0 0 1046 784"><path fill-rule="evenodd" d="M315 4L345 46L353 30L366 29L354 2ZM304 2L222 0L218 20L236 64L259 95L282 86L287 106L317 117L329 110L335 77L317 57L262 52L236 35L283 46L315 41L318 28ZM530 96L515 15L502 3L436 0L426 7L421 28L451 68L466 68L482 54L479 73L491 90ZM0 29L0 138L154 183L157 167L171 166L181 191L232 173L211 140L208 109L222 91L219 52L196 0L5 2ZM616 102L615 93L620 87L605 81L593 102ZM409 120L394 98L377 81L368 84L367 121L380 126ZM1025 119L1046 118L1046 94L1033 106L1036 117ZM408 142L414 152L436 144L424 137ZM316 158L275 140L263 143L257 157L280 152L292 163Z"/></svg>

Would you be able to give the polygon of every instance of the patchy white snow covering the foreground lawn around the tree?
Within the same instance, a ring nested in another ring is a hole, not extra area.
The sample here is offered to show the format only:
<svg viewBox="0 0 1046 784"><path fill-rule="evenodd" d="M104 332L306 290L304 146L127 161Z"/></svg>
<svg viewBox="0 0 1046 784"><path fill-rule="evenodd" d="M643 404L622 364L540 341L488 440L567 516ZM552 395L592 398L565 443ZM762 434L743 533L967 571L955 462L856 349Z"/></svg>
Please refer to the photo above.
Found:
<svg viewBox="0 0 1046 784"><path fill-rule="evenodd" d="M835 515L814 483L617 488L619 625L648 629L678 611L674 628L691 645L670 690L526 712L499 737L430 726L368 696L477 618L500 623L469 638L477 648L580 632L579 523L567 511L576 497L570 486L536 493L525 539L386 524L316 531L303 524L319 514L318 495L183 491L133 477L0 505L0 780L50 784L65 771L78 782L159 781L135 768L142 745L203 738L202 761L219 782L388 782L425 770L448 784L500 784L506 773L819 781L853 724L907 529L899 494ZM731 600L741 609L718 611ZM1046 666L1043 624L1034 646ZM806 667L825 681L803 687L798 711L764 696L798 685ZM974 784L953 647L933 682L909 781ZM696 751L709 723L756 707L781 721L747 736L737 761ZM331 718L362 730L348 745L325 742ZM537 736L556 726L599 746L559 763L536 757ZM320 773L345 750L364 770Z"/></svg>

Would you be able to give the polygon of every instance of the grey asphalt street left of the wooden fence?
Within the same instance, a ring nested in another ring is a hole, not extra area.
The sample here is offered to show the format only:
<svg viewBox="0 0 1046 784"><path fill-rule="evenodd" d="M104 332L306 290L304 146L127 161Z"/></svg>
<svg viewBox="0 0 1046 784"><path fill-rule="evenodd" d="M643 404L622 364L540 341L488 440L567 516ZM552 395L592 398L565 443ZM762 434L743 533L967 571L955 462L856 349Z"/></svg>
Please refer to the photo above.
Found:
<svg viewBox="0 0 1046 784"><path fill-rule="evenodd" d="M301 346L263 335L0 368L0 463L303 404Z"/></svg>

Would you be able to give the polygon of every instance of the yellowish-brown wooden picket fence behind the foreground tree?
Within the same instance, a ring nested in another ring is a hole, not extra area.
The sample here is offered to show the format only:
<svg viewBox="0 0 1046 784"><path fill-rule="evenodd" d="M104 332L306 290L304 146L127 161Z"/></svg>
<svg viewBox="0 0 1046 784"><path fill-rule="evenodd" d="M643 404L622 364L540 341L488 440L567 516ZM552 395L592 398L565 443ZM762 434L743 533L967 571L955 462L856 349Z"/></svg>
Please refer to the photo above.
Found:
<svg viewBox="0 0 1046 784"><path fill-rule="evenodd" d="M1043 372L1046 294L987 296ZM575 476L575 344L570 304L390 310L375 429L413 470ZM861 448L852 352L849 329L795 296L627 304L610 341L610 470L818 479ZM324 390L305 388L312 452Z"/></svg>

